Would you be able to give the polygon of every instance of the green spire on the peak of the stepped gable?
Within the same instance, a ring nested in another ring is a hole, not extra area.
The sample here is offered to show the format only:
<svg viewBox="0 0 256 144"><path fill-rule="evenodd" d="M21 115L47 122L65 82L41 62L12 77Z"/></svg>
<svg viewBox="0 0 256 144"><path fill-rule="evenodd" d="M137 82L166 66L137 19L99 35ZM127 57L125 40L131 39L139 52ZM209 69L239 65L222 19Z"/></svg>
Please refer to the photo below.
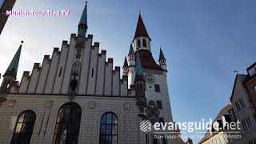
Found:
<svg viewBox="0 0 256 144"><path fill-rule="evenodd" d="M87 29L88 29L88 26L87 26L87 2L86 2L86 6L83 9L82 16L78 24L78 36L86 37Z"/></svg>

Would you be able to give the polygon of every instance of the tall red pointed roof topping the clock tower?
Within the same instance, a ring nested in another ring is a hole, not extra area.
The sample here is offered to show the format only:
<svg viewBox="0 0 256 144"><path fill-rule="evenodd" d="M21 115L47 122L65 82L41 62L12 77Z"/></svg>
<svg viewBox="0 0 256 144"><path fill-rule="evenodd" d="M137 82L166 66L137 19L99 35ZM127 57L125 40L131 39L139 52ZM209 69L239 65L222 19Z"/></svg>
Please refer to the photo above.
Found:
<svg viewBox="0 0 256 144"><path fill-rule="evenodd" d="M138 23L137 23L136 31L134 34L134 39L139 37L146 37L151 40L149 34L147 34L146 26L144 25L144 22L142 20L141 13L138 14Z"/></svg>

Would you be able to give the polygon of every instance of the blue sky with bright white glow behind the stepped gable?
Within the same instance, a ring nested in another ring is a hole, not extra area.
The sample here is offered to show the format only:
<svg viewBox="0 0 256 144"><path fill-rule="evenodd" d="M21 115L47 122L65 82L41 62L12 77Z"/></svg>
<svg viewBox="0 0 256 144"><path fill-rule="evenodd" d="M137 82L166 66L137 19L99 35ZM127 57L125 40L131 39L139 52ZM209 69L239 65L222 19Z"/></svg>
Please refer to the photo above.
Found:
<svg viewBox="0 0 256 144"><path fill-rule="evenodd" d="M14 10L70 10L67 17L10 17L0 35L0 72L4 73L21 40L18 70L32 70L44 54L77 32L84 0L17 1ZM234 70L246 74L255 62L256 1L254 0L94 0L88 2L88 34L100 42L115 66L122 66L134 36L138 10L168 64L168 85L174 121L215 118L229 103ZM198 140L195 140L197 142Z"/></svg>

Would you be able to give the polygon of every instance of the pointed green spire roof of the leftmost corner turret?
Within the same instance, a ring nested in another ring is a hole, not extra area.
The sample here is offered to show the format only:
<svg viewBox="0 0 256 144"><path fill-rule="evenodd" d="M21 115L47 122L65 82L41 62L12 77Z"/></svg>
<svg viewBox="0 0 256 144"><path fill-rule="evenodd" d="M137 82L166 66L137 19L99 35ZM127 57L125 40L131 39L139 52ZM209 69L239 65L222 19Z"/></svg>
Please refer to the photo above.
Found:
<svg viewBox="0 0 256 144"><path fill-rule="evenodd" d="M14 78L16 78L17 71L18 71L18 62L19 62L19 58L21 57L21 52L22 52L22 44L18 47L18 50L14 55L14 58L11 60L10 65L6 70L6 73L3 76L13 76Z"/></svg>

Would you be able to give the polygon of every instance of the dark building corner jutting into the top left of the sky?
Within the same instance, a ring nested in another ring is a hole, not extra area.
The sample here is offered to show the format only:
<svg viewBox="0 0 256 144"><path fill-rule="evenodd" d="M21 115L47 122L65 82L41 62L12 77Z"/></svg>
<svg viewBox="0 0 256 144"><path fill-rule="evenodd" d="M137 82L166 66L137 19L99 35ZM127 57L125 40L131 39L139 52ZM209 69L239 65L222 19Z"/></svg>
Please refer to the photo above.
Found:
<svg viewBox="0 0 256 144"><path fill-rule="evenodd" d="M0 34L9 18L6 15L6 10L12 10L15 2L16 0L0 0Z"/></svg>

